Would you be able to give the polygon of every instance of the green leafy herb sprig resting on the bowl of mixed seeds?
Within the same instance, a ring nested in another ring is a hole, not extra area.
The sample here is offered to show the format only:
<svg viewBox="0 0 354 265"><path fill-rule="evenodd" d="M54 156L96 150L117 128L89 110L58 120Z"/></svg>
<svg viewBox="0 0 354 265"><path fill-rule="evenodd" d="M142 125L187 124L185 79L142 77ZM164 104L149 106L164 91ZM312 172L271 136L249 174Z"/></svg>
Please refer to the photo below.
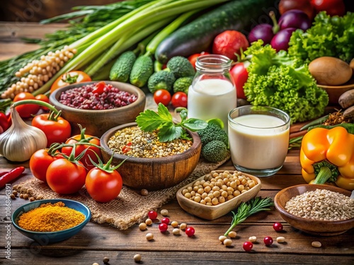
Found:
<svg viewBox="0 0 354 265"><path fill-rule="evenodd" d="M181 122L173 122L173 118L169 109L163 104L159 103L157 106L157 112L154 110L145 110L141 112L135 122L143 131L155 131L157 130L157 136L159 141L166 142L174 139L188 139L191 137L185 131L199 131L205 129L207 122L202 119L187 118L187 110L180 112Z"/></svg>

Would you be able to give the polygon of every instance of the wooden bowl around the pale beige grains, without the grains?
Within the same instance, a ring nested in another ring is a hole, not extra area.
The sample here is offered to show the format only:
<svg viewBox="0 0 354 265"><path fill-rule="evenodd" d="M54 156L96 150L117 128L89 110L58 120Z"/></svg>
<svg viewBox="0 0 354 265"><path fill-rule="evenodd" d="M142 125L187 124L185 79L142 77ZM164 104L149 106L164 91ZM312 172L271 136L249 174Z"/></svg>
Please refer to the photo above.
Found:
<svg viewBox="0 0 354 265"><path fill-rule="evenodd" d="M314 220L295 216L285 210L287 201L304 192L314 191L316 189L328 189L332 192L338 192L350 196L351 192L329 185L302 184L282 189L275 195L274 204L278 209L280 216L292 227L307 232L311 235L331 236L340 235L351 228L354 228L354 218L348 220Z"/></svg>

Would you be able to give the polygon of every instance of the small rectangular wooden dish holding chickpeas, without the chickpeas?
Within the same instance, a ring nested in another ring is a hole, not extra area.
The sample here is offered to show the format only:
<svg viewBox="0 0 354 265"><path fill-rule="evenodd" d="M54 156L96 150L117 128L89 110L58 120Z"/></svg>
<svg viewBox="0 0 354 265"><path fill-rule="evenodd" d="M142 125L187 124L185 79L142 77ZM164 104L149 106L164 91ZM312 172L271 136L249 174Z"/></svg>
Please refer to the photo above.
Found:
<svg viewBox="0 0 354 265"><path fill-rule="evenodd" d="M224 172L224 170L215 170L216 172ZM229 171L231 174L233 174L233 171ZM249 189L247 192L244 192L243 194L240 194L239 196L234 197L233 199L229 201L225 201L222 204L217 204L216 206L208 206L204 204L200 204L198 202L192 201L188 198L186 198L183 194L182 191L183 189L186 189L188 186L193 184L194 182L198 180L205 179L205 177L209 177L209 175L204 175L198 179L195 179L195 181L191 182L190 184L185 185L181 189L178 190L176 194L176 198L178 201L178 204L183 208L184 211L193 214L194 216L198 216L203 219L207 220L215 220L221 216L224 216L225 214L229 213L230 211L234 210L237 208L242 201L249 201L253 197L255 197L258 192L261 190L261 179L258 179L258 177L255 177L253 175L245 174L246 177L250 177L254 181L257 182L256 186Z"/></svg>

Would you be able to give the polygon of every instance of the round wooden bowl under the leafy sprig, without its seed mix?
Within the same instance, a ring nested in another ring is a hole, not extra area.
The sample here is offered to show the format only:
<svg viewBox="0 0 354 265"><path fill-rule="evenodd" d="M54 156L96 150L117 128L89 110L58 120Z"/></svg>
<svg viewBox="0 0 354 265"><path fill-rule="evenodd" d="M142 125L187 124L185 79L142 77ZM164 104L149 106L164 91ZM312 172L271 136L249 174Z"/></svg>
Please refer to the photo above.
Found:
<svg viewBox="0 0 354 265"><path fill-rule="evenodd" d="M116 131L137 126L135 122L116 126L103 134L101 146L103 160L107 162L113 151L108 147L108 141ZM123 184L134 189L158 190L173 187L189 177L198 164L202 144L198 134L188 131L193 137L193 145L185 152L164 158L127 158L127 155L115 153L113 165L125 162L118 168Z"/></svg>

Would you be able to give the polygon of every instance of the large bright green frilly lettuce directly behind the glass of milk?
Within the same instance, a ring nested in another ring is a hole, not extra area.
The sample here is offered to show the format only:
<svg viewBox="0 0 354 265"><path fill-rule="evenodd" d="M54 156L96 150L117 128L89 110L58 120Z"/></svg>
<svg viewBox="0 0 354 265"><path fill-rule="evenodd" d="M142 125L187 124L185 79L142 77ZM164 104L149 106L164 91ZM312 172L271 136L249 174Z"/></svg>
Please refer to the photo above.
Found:
<svg viewBox="0 0 354 265"><path fill-rule="evenodd" d="M291 122L304 122L324 114L329 103L325 90L316 86L307 64L292 59L284 51L253 42L246 50L251 58L249 78L244 85L246 98L252 105L276 107L290 115Z"/></svg>

